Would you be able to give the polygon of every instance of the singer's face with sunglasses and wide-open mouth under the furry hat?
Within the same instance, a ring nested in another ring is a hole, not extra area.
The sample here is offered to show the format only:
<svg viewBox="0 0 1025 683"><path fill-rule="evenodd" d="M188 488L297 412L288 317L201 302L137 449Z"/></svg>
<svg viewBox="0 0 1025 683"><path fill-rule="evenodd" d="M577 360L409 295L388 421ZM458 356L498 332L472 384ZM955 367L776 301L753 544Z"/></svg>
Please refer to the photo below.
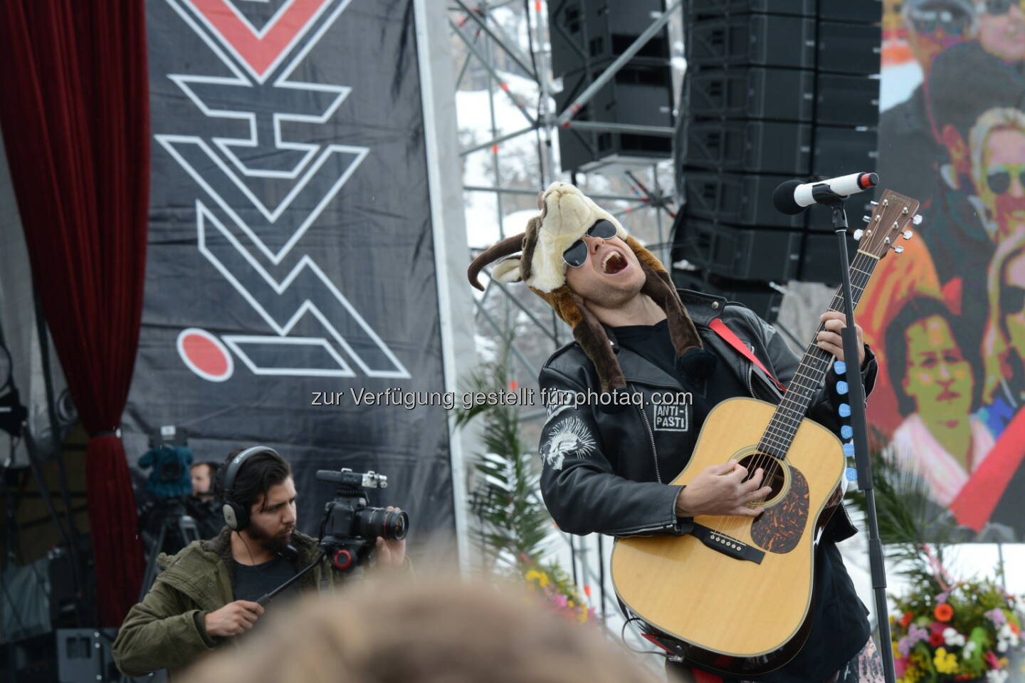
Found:
<svg viewBox="0 0 1025 683"><path fill-rule="evenodd" d="M566 284L589 304L615 307L644 286L645 274L633 250L616 237L616 228L599 220L563 252Z"/></svg>

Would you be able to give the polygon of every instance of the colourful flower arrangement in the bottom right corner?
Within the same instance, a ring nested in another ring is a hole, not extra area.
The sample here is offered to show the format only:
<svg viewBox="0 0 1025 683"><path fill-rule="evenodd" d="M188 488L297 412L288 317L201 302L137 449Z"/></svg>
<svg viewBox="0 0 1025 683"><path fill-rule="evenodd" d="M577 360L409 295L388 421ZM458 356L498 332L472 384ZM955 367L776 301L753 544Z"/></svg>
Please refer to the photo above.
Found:
<svg viewBox="0 0 1025 683"><path fill-rule="evenodd" d="M898 681L1009 680L1009 657L1023 645L1025 596L988 579L947 587L929 576L891 597L900 614L890 617Z"/></svg>

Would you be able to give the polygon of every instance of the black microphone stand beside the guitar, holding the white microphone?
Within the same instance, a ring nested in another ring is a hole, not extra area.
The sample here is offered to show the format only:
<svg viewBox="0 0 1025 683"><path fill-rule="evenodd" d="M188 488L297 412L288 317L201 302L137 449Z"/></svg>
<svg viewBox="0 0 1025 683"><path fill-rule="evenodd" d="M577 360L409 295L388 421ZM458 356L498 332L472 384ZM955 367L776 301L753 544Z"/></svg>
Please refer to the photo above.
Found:
<svg viewBox="0 0 1025 683"><path fill-rule="evenodd" d="M872 487L872 461L868 455L868 424L865 420L865 385L861 380L858 359L858 332L854 322L854 297L851 295L850 259L847 254L847 197L837 195L828 186L816 187L812 196L819 203L832 209L833 230L839 245L840 282L844 287L844 358L847 359L848 397L851 402L851 427L854 430L854 457L858 468L858 488L865 492L865 518L868 521L868 561L872 574L872 593L875 595L875 618L879 629L879 654L883 674L887 683L895 683L894 652L890 644L890 617L887 607L887 570L883 563L883 544L879 540L879 522L875 514L875 491Z"/></svg>

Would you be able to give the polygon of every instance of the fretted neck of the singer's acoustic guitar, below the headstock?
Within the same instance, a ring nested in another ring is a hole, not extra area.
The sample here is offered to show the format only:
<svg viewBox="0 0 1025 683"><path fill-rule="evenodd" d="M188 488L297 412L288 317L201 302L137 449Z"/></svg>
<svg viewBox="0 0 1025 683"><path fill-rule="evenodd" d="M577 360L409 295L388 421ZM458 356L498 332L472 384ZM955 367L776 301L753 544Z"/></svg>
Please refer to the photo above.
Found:
<svg viewBox="0 0 1025 683"><path fill-rule="evenodd" d="M854 305L858 306L862 292L868 285L872 277L872 271L878 263L878 256L874 256L865 251L857 251L854 260L851 263L851 293L854 296ZM837 287L833 293L832 303L829 305L830 311L844 313L844 288ZM815 330L816 336L825 329L825 323L819 323ZM785 457L793 436L797 433L801 420L805 417L808 406L812 399L818 394L822 380L825 378L832 365L833 355L828 351L820 349L813 337L812 343L805 350L805 355L801 359L793 378L790 379L783 400L776 408L776 412L769 423L762 441L758 443L758 450L762 452Z"/></svg>

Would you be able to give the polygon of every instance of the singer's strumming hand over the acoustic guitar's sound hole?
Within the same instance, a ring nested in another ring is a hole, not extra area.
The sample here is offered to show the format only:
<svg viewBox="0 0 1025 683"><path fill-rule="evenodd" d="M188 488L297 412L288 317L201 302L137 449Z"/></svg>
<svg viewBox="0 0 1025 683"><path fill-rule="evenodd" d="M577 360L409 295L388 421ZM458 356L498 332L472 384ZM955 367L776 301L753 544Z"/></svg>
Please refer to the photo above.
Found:
<svg viewBox="0 0 1025 683"><path fill-rule="evenodd" d="M676 516L739 515L757 517L765 508L749 508L748 503L764 500L772 488L762 486L762 468L748 481L747 470L739 463L712 465L685 486L676 496Z"/></svg>

